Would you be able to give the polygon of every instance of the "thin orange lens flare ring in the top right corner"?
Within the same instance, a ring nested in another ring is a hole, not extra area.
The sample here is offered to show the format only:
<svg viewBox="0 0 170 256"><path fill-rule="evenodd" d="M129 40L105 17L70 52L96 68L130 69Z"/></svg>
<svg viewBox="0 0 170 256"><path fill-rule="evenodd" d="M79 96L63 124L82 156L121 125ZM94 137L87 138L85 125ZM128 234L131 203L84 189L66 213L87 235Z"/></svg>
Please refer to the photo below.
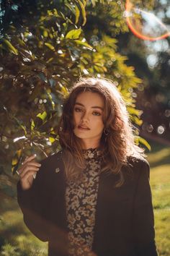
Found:
<svg viewBox="0 0 170 256"><path fill-rule="evenodd" d="M128 27L130 28L130 30L132 31L132 33L137 36L138 38L140 39L143 39L143 40L150 40L150 41L154 41L154 40L161 40L161 39L164 39L164 38L167 38L169 37L170 35L170 31L168 31L167 33L164 33L164 35L159 35L159 36L156 36L156 37L151 37L149 35L143 35L142 33L140 33L140 29L137 30L135 28L135 26L133 25L133 22L131 21L130 17L132 17L132 11L133 11L134 7L133 7L133 4L130 2L130 0L126 0L126 4L125 4L125 17L126 17L126 21L127 21L127 24L128 24ZM141 11L143 13L146 13L145 11ZM157 22L158 22L158 19L157 19ZM166 26L164 24L162 24L160 21L159 21L159 24L166 28ZM141 27L140 24L138 24L138 27ZM167 30L167 28L166 28Z"/></svg>

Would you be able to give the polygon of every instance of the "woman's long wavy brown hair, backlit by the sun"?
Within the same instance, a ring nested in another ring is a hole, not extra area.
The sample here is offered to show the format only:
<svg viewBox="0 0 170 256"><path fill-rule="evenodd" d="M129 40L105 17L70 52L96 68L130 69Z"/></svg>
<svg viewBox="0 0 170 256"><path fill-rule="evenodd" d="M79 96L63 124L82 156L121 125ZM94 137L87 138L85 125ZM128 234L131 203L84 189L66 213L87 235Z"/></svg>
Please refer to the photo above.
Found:
<svg viewBox="0 0 170 256"><path fill-rule="evenodd" d="M130 123L125 102L115 85L103 78L81 78L71 88L63 104L63 114L58 126L58 135L66 170L66 179L81 179L85 168L84 155L81 148L81 139L73 133L73 107L80 93L90 91L98 93L104 99L104 132L100 141L102 149L101 172L119 174L116 187L124 182L122 166L128 165L128 158L143 158L143 149L135 144L133 125ZM107 131L107 132L106 132Z"/></svg>

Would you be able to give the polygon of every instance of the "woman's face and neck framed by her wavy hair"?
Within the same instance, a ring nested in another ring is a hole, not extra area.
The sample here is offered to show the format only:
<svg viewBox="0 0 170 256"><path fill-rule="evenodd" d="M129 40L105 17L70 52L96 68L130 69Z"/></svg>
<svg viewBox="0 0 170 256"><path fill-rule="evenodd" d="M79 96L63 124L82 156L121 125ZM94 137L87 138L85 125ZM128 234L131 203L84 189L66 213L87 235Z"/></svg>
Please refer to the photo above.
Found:
<svg viewBox="0 0 170 256"><path fill-rule="evenodd" d="M85 148L99 146L104 124L104 100L98 93L80 93L73 107L74 135L84 142Z"/></svg>

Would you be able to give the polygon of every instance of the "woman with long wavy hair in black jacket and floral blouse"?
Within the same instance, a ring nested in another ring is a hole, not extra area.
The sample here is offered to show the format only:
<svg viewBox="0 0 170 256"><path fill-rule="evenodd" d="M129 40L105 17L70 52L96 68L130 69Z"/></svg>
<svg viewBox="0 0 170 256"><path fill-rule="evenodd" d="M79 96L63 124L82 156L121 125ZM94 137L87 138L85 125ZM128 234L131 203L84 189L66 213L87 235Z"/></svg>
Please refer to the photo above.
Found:
<svg viewBox="0 0 170 256"><path fill-rule="evenodd" d="M24 222L48 254L156 256L148 162L112 82L77 82L58 135L62 150L41 164L27 158L17 186Z"/></svg>

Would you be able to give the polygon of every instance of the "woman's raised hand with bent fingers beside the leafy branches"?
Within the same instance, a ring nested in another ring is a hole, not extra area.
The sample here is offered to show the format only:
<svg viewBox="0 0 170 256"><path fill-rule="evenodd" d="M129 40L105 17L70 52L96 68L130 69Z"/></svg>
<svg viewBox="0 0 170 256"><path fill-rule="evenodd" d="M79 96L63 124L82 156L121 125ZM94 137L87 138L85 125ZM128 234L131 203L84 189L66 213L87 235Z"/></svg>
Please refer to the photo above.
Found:
<svg viewBox="0 0 170 256"><path fill-rule="evenodd" d="M22 163L22 167L18 171L23 190L30 189L33 183L34 175L37 174L37 171L39 171L41 166L40 163L35 162L35 157L36 155L27 157L24 163Z"/></svg>

